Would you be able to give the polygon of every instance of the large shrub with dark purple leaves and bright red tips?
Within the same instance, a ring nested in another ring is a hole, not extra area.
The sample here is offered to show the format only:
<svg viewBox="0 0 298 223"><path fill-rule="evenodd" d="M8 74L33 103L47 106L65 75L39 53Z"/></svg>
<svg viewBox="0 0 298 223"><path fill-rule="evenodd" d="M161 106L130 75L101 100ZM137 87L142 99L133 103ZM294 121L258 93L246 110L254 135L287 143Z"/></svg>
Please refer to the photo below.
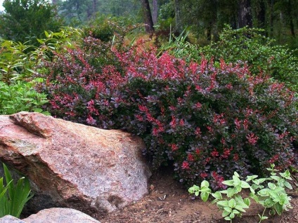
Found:
<svg viewBox="0 0 298 223"><path fill-rule="evenodd" d="M282 83L246 65L188 65L141 45L108 51L112 62L100 64L100 45L90 43L45 64L51 114L140 135L153 165L174 163L188 185L208 179L218 189L234 171L263 175L270 163L297 161L297 99Z"/></svg>

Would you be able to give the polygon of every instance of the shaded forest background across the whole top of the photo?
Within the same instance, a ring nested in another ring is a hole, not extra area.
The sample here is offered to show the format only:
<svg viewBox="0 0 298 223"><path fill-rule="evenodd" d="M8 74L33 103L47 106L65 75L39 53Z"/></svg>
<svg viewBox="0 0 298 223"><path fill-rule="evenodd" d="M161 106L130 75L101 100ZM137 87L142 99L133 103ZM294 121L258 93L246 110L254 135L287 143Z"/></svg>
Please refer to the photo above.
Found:
<svg viewBox="0 0 298 223"><path fill-rule="evenodd" d="M188 29L189 41L200 45L218 41L228 24L261 28L277 44L298 46L298 0L6 0L4 8L0 35L20 42L47 29L100 26L110 18L123 26L145 23L145 32L164 36Z"/></svg>

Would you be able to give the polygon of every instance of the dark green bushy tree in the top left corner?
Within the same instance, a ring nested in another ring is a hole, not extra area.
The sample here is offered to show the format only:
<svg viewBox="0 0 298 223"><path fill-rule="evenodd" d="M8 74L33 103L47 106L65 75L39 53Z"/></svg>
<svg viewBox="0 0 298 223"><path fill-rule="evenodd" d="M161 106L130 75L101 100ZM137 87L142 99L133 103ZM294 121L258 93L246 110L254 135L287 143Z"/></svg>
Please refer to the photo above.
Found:
<svg viewBox="0 0 298 223"><path fill-rule="evenodd" d="M44 37L45 30L53 32L63 25L55 6L46 0L6 0L5 12L0 15L0 36L12 41L31 41Z"/></svg>

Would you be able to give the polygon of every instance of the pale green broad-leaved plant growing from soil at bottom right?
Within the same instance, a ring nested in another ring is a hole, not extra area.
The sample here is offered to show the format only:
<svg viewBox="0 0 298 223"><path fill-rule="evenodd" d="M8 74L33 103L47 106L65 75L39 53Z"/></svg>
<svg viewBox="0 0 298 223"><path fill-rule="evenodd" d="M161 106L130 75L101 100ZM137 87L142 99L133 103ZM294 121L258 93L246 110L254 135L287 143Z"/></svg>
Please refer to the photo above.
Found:
<svg viewBox="0 0 298 223"><path fill-rule="evenodd" d="M265 212L269 209L270 215L281 215L284 210L292 208L290 201L291 197L287 195L285 189L292 189L288 180L292 180L290 171L286 170L285 173L278 173L278 170L271 165L268 168L271 176L267 178L259 178L257 175L247 176L246 180L241 180L238 173L234 173L232 180L222 182L227 189L222 191L211 192L209 189L209 182L202 181L201 187L193 185L188 189L190 194L200 196L202 201L207 201L211 194L214 198L212 203L216 203L217 207L222 210L222 217L226 221L232 222L238 216L241 217L245 209L250 208L251 199L261 204L264 211L259 215L259 222L268 217ZM242 189L250 189L250 196L242 198L240 192Z"/></svg>

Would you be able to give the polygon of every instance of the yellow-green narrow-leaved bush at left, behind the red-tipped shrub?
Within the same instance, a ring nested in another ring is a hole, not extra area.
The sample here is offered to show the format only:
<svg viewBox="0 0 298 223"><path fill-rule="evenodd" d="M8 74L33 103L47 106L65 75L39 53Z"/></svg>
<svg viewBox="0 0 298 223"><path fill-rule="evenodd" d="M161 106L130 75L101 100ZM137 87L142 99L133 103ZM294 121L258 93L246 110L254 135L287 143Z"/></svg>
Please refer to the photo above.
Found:
<svg viewBox="0 0 298 223"><path fill-rule="evenodd" d="M0 81L27 81L32 74L40 72L39 65L44 60L51 60L53 52L60 52L65 47L73 48L82 42L81 29L63 27L60 32L44 32L44 39L38 48L26 43L3 40L0 43ZM42 61L41 61L42 60Z"/></svg>

